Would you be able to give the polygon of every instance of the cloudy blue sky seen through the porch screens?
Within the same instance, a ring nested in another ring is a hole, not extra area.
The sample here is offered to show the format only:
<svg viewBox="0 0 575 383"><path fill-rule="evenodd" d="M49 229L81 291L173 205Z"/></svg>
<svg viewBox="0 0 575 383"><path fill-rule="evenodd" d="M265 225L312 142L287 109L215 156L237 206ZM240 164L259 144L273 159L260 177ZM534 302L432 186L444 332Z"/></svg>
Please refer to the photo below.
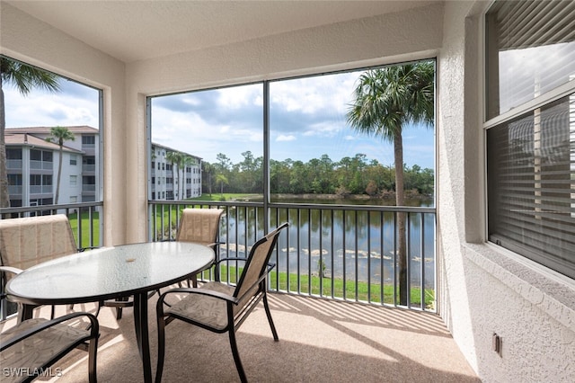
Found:
<svg viewBox="0 0 575 383"><path fill-rule="evenodd" d="M309 161L328 155L366 155L394 164L392 144L349 128L345 114L360 72L314 76L270 83L270 156L279 161ZM4 86L6 126L72 126L98 128L98 93L72 81L61 92L34 90L22 97ZM242 153L263 154L261 84L155 97L152 140L166 147L216 162L218 153L233 163ZM422 126L403 130L403 162L434 167L434 131Z"/></svg>

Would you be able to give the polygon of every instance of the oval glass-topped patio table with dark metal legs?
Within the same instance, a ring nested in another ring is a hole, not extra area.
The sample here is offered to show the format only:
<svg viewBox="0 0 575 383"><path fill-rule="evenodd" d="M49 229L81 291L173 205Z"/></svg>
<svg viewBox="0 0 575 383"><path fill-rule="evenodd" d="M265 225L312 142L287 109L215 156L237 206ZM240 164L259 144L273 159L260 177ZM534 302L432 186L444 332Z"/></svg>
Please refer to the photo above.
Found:
<svg viewBox="0 0 575 383"><path fill-rule="evenodd" d="M134 325L144 381L152 381L148 292L184 281L214 261L214 251L186 242L102 247L40 263L6 285L7 298L22 303L19 319L39 305L68 305L134 297Z"/></svg>

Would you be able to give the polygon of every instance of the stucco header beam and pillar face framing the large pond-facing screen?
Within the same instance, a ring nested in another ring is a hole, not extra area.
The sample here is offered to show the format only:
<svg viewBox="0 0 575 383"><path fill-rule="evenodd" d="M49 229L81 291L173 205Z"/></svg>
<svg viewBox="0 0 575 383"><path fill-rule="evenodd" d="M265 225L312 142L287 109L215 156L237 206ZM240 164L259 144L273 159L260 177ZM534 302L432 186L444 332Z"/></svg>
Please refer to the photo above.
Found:
<svg viewBox="0 0 575 383"><path fill-rule="evenodd" d="M137 172L128 174L128 183L137 185L137 199L128 200L128 214L137 225L129 228L128 240L146 240L146 95L435 57L442 14L441 5L432 5L130 63L127 102L137 107L127 111L127 161Z"/></svg>

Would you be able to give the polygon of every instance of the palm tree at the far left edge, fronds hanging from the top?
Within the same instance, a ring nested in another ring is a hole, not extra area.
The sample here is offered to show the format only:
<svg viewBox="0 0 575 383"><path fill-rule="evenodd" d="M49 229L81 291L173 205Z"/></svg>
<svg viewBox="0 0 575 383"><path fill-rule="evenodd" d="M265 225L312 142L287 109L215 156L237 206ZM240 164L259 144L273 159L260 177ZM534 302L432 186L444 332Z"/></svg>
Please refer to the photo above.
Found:
<svg viewBox="0 0 575 383"><path fill-rule="evenodd" d="M43 88L51 92L60 90L58 76L10 58L0 57L0 208L10 207L6 143L4 140L6 129L4 90L2 88L4 84L12 84L24 96L30 94L32 88Z"/></svg>

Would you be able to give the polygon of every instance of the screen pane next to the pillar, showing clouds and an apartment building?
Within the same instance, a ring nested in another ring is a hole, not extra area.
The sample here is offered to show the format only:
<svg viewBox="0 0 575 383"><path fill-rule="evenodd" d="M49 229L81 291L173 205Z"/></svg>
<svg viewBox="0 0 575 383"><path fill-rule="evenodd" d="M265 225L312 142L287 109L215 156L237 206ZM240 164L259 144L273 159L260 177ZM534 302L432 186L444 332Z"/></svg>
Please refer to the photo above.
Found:
<svg viewBox="0 0 575 383"><path fill-rule="evenodd" d="M176 165L174 183L150 184L157 199L219 200L226 193L263 192L263 87L242 85L151 99L152 153L157 180L172 176L170 152L193 161ZM158 147L164 155L158 155ZM160 164L162 163L162 166ZM170 173L170 174L168 174ZM180 175L180 179L178 175ZM174 185L180 190L176 191ZM185 187L185 192L181 189Z"/></svg>

